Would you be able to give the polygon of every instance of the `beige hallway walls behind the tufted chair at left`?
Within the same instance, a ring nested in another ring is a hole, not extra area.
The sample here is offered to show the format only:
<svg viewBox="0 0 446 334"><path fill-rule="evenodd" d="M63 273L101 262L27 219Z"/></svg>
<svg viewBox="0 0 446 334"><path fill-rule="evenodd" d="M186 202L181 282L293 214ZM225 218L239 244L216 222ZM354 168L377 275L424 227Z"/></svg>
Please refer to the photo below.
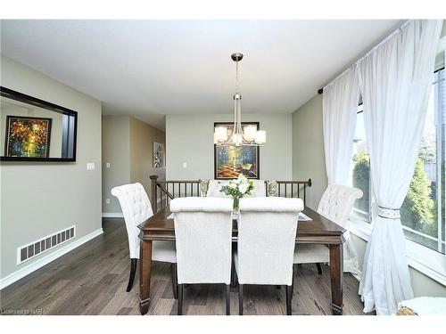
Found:
<svg viewBox="0 0 446 334"><path fill-rule="evenodd" d="M111 196L117 185L142 183L151 198L149 176L166 175L165 168L153 168L153 142L165 146L165 133L136 118L103 116L103 213L121 212L119 201Z"/></svg>

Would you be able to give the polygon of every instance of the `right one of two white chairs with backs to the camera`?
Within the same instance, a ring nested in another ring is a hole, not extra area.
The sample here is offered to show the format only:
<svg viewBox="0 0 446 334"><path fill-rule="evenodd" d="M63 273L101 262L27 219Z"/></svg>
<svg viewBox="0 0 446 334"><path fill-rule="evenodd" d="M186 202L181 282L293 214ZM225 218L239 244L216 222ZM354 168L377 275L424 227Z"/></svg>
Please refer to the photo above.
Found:
<svg viewBox="0 0 446 334"><path fill-rule="evenodd" d="M300 199L278 197L240 200L235 272L239 283L239 314L244 284L285 285L286 314L292 314L293 254Z"/></svg>

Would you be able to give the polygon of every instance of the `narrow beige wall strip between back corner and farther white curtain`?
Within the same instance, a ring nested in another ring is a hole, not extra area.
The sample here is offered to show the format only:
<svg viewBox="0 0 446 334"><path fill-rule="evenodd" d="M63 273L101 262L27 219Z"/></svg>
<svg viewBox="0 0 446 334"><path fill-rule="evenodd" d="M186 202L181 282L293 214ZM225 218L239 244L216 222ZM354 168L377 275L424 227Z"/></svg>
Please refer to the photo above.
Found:
<svg viewBox="0 0 446 334"><path fill-rule="evenodd" d="M326 190L326 159L322 132L322 95L293 113L293 180L311 179L307 205L317 209Z"/></svg>

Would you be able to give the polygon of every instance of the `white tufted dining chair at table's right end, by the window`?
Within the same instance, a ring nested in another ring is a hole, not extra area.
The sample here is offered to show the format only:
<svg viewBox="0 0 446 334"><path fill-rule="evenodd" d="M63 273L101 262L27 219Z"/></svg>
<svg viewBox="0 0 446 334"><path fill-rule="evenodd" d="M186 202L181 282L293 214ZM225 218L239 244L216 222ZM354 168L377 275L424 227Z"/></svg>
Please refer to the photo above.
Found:
<svg viewBox="0 0 446 334"><path fill-rule="evenodd" d="M331 184L319 201L318 214L345 228L355 200L362 197L362 191L342 184ZM345 246L344 246L345 247ZM322 273L321 263L330 261L326 245L298 244L294 252L294 264L317 264Z"/></svg>

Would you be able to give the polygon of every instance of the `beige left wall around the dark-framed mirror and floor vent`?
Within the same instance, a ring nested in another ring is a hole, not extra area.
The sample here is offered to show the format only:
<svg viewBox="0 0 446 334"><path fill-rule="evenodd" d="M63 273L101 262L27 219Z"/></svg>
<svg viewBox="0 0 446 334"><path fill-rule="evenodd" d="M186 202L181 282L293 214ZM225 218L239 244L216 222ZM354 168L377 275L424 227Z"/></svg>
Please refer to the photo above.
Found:
<svg viewBox="0 0 446 334"><path fill-rule="evenodd" d="M2 278L57 250L16 265L17 248L76 225L78 240L101 229L101 102L2 56L1 86L78 111L73 163L2 162ZM87 171L87 162L95 170ZM65 244L66 245L66 244Z"/></svg>

